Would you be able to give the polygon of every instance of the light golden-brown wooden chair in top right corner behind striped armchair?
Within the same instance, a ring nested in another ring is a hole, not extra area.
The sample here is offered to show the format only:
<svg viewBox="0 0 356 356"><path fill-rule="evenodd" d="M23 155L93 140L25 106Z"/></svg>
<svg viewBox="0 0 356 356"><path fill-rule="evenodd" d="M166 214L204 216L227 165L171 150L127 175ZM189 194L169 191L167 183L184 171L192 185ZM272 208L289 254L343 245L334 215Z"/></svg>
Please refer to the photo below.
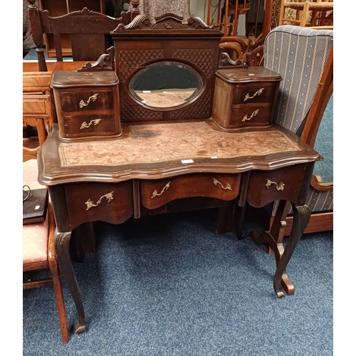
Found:
<svg viewBox="0 0 356 356"><path fill-rule="evenodd" d="M295 26L330 26L333 25L333 1L310 0L310 1L287 1L281 0L281 12L278 25ZM295 17L286 16L288 9L295 11ZM327 14L329 13L329 15Z"/></svg>

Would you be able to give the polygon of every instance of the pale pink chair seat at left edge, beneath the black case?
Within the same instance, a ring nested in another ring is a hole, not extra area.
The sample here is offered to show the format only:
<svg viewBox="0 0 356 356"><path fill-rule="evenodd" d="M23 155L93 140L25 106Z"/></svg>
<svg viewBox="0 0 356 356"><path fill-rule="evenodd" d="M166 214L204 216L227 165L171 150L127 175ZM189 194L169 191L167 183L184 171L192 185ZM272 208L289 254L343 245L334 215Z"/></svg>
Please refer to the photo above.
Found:
<svg viewBox="0 0 356 356"><path fill-rule="evenodd" d="M29 159L22 166L23 184L31 189L42 189L46 186L38 183L37 159ZM48 206L50 209L50 206ZM48 251L48 216L43 223L23 225L22 229L22 262L47 261Z"/></svg>

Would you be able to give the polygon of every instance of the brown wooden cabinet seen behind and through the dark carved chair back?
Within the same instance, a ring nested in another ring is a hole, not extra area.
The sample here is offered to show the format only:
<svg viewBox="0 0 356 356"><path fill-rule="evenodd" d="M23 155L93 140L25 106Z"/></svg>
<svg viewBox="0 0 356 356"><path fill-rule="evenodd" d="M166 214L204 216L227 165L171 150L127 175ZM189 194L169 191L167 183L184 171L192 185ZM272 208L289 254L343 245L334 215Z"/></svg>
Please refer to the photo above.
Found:
<svg viewBox="0 0 356 356"><path fill-rule="evenodd" d="M49 16L62 16L72 11L82 10L84 7L105 14L105 0L39 0L42 10L48 10ZM53 44L53 35L45 36L46 50L48 57L56 57L56 50ZM63 56L72 56L72 44L70 35L61 35Z"/></svg>

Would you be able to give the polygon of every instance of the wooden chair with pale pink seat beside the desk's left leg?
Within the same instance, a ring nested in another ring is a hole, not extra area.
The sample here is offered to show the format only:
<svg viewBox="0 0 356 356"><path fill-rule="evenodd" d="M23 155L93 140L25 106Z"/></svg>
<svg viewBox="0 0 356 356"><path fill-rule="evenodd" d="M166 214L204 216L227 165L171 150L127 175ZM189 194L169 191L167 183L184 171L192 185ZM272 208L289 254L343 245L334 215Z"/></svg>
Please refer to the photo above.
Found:
<svg viewBox="0 0 356 356"><path fill-rule="evenodd" d="M38 167L36 159L23 162L23 184L28 184L31 189L46 188L37 181ZM56 223L54 220L51 204L48 204L46 220L42 223L23 225L23 261L22 269L24 277L28 271L46 269L49 271L48 278L39 278L23 281L23 289L53 286L56 295L59 321L61 325L62 341L68 343L68 326L66 307L63 299L61 274L54 249L54 234ZM23 305L26 308L26 305Z"/></svg>

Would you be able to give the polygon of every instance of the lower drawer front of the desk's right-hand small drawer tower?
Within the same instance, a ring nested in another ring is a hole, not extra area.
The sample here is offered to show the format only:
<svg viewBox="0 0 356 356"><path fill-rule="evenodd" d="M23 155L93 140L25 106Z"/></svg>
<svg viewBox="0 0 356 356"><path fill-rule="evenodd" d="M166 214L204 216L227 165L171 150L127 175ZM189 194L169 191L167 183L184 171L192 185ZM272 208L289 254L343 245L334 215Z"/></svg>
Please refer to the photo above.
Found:
<svg viewBox="0 0 356 356"><path fill-rule="evenodd" d="M234 105L231 109L229 128L267 127L271 125L271 114L270 104Z"/></svg>

